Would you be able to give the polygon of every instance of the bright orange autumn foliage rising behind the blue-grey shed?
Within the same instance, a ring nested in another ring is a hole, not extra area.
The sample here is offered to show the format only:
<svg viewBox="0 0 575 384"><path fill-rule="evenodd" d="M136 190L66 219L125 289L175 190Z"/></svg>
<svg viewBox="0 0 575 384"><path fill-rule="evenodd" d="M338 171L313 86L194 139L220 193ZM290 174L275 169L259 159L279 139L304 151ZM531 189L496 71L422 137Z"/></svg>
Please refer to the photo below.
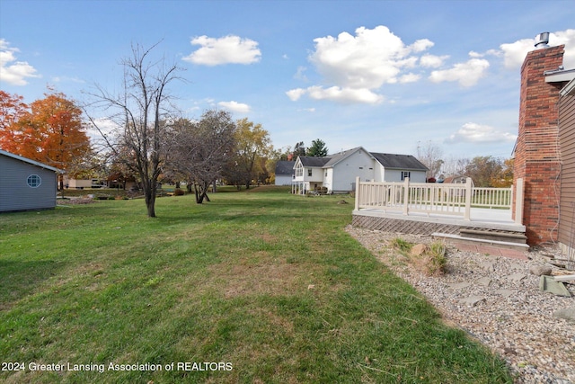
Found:
<svg viewBox="0 0 575 384"><path fill-rule="evenodd" d="M6 103L22 100L10 95L5 99ZM44 99L31 103L28 110L21 103L9 111L13 113L4 116L0 131L0 147L4 150L68 173L75 173L92 154L82 110L65 94L46 94Z"/></svg>

